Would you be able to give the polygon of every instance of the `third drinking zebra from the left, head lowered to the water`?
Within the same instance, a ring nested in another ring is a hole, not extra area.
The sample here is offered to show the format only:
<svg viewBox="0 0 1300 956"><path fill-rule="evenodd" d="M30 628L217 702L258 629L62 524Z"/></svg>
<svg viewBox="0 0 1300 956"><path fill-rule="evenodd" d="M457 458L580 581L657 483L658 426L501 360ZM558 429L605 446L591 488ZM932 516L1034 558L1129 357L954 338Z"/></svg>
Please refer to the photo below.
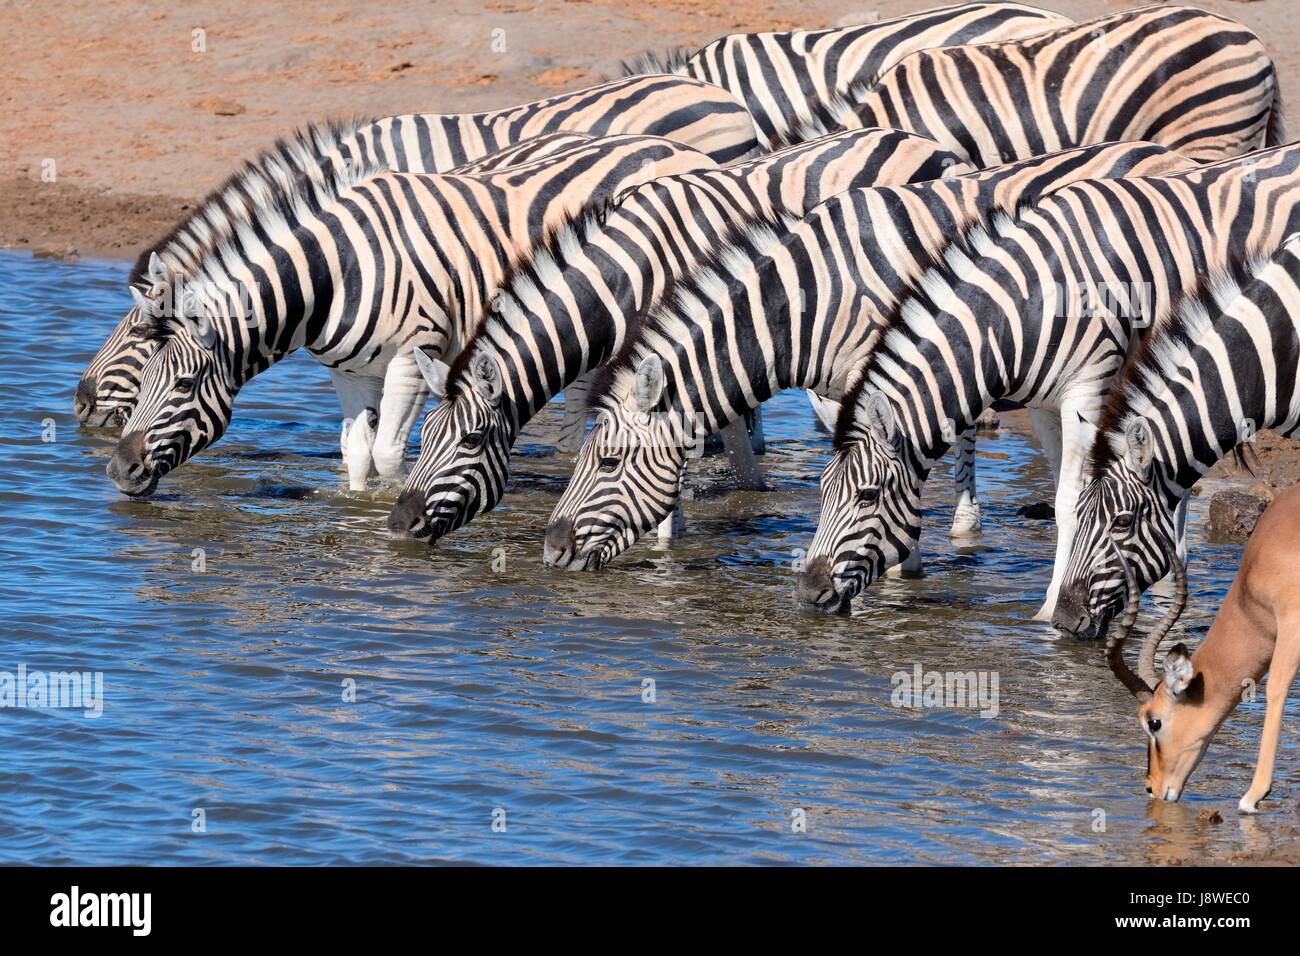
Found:
<svg viewBox="0 0 1300 956"><path fill-rule="evenodd" d="M441 402L425 418L390 532L433 542L495 507L520 429L559 392L568 405L585 390L628 324L732 224L811 208L855 185L961 169L928 139L855 130L738 166L662 177L566 224L516 264L450 369L421 359Z"/></svg>

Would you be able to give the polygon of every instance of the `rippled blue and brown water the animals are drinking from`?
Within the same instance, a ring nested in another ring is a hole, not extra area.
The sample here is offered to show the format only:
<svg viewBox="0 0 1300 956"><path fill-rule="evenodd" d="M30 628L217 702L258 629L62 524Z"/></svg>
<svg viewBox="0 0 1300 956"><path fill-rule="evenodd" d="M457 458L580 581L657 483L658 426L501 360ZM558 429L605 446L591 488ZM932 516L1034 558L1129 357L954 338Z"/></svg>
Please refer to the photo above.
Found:
<svg viewBox="0 0 1300 956"><path fill-rule="evenodd" d="M982 441L979 546L942 533L936 476L928 575L883 581L849 619L792 597L828 446L794 394L766 411L775 492L723 494L706 462L688 537L595 575L541 563L569 466L556 415L498 511L436 549L394 542L395 489L347 490L306 354L130 501L104 475L113 436L70 411L125 276L0 255L0 670L104 675L99 718L0 710L0 862L1171 862L1291 832L1294 718L1275 812L1234 812L1262 701L1182 804L1148 805L1100 648L1030 622L1052 529L1015 512L1050 483L1015 432ZM1191 637L1239 557L1204 542L1205 503ZM915 665L996 672L997 715L893 706ZM1210 808L1223 823L1199 819Z"/></svg>

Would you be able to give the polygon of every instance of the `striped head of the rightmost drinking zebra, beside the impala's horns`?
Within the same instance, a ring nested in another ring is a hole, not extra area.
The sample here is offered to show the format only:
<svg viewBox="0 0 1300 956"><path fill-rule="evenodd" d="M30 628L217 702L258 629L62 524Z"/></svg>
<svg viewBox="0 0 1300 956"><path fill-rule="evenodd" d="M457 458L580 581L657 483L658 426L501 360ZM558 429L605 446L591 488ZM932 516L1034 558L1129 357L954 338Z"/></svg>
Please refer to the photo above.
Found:
<svg viewBox="0 0 1300 956"><path fill-rule="evenodd" d="M1112 438L1114 442L1115 438ZM1174 514L1157 486L1150 427L1134 419L1121 451L1084 488L1052 626L1082 640L1105 635L1124 607L1126 575L1139 593L1182 567Z"/></svg>

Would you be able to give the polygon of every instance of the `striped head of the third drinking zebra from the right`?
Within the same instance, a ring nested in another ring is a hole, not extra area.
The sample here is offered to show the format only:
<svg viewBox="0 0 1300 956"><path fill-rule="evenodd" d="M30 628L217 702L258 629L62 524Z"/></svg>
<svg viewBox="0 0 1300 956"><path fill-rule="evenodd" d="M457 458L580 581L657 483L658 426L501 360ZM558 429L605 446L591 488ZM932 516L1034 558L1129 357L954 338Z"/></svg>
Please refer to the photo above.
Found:
<svg viewBox="0 0 1300 956"><path fill-rule="evenodd" d="M619 376L621 386L598 399L595 425L546 525L543 559L551 567L604 567L677 503L686 440L684 429L655 411L664 392L663 362L650 354L634 373L623 369Z"/></svg>

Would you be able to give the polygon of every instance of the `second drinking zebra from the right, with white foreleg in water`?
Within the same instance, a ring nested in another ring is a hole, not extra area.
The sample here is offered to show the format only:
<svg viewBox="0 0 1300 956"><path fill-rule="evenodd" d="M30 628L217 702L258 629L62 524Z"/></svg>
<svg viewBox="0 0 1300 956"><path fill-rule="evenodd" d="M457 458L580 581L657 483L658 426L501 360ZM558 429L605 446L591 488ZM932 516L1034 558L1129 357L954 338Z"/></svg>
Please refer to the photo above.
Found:
<svg viewBox="0 0 1300 956"><path fill-rule="evenodd" d="M1300 226L1300 146L1187 173L1092 179L994 217L913 284L845 393L822 515L798 585L822 610L916 545L933 462L994 401L1062 428L1049 620L1074 536L1087 445L1126 351L1236 250Z"/></svg>

